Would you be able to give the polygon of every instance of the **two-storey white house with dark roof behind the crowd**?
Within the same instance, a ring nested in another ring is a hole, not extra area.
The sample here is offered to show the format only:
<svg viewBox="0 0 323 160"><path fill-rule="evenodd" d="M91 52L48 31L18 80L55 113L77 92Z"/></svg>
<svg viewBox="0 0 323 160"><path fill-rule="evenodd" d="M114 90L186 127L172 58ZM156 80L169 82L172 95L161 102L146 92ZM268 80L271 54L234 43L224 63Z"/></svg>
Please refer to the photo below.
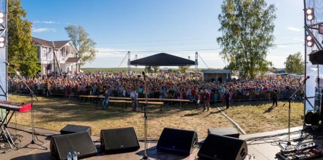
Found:
<svg viewBox="0 0 323 160"><path fill-rule="evenodd" d="M42 74L49 74L54 72L54 53L52 41L32 37L34 44L38 47L37 57L39 58L39 64L41 64ZM55 55L59 68L63 72L74 73L77 69L76 64L83 63L82 59L76 57L76 49L70 40L54 41ZM58 66L55 60L55 70L59 72Z"/></svg>

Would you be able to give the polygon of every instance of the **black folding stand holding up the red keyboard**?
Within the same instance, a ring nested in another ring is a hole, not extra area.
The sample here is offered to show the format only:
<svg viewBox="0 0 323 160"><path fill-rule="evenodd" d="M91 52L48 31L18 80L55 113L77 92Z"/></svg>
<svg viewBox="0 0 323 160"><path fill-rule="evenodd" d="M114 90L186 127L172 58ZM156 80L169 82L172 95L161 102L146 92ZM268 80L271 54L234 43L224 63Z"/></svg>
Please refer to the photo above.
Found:
<svg viewBox="0 0 323 160"><path fill-rule="evenodd" d="M18 148L18 146L17 146L17 145L14 143L14 141L12 140L12 137L11 137L11 135L10 135L10 132L9 132L9 130L8 130L8 128L7 128L7 125L8 125L8 123L10 122L10 120L11 120L11 118L12 118L12 116L13 116L13 113L14 113L14 112L15 112L15 111L12 111L12 113L11 113L11 115L10 115L10 118L9 118L9 120L7 121L7 123L5 123L5 120L8 118L8 115L9 115L9 113L10 113L10 110L8 110L8 111L7 111L6 116L5 116L5 118L4 118L4 119L1 119L1 118L0 118L0 122L1 122L1 125L0 125L0 128L1 128L0 137L1 137L2 135L4 135L4 138L6 139L6 141L8 142L8 144L9 144L9 146L10 146L10 149L5 150L5 151L3 151L2 153L6 153L6 152L9 152L9 151L11 151L11 150L13 150L13 149Z"/></svg>

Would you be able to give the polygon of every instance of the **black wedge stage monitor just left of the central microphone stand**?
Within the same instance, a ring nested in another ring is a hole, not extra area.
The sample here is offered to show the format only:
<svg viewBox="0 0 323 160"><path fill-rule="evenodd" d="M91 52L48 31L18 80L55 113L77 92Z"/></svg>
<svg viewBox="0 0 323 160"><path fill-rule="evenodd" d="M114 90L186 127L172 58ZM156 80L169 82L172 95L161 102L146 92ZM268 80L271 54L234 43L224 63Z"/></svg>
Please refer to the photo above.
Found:
<svg viewBox="0 0 323 160"><path fill-rule="evenodd" d="M134 151L140 148L133 127L103 129L100 139L101 146L107 153Z"/></svg>

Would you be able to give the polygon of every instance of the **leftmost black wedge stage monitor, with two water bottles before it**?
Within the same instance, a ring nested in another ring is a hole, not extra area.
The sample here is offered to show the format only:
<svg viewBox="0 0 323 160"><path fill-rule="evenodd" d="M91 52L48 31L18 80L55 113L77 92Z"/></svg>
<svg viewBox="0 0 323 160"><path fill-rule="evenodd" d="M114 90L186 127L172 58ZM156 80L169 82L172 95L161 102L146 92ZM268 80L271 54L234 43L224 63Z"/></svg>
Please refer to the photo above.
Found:
<svg viewBox="0 0 323 160"><path fill-rule="evenodd" d="M50 151L60 160L67 159L67 153L75 151L77 157L87 158L97 154L94 143L88 132L54 135L50 139Z"/></svg>

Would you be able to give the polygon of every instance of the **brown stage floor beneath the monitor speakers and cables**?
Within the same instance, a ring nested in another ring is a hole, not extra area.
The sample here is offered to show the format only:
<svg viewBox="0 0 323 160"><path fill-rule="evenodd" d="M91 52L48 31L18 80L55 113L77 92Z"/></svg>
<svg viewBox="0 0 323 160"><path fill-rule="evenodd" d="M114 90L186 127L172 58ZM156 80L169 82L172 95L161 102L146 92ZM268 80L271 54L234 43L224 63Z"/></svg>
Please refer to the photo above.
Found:
<svg viewBox="0 0 323 160"><path fill-rule="evenodd" d="M23 136L21 139L20 145L24 146L25 144L28 144L31 141L31 127L29 126L23 126L23 125L16 125L17 129L15 129L15 124L10 123L9 124L9 131L12 134L20 134ZM301 127L294 127L291 129L291 131L297 131L300 130ZM43 150L41 147L38 147L36 145L30 145L29 147L31 148L23 148L23 149L18 149L18 150L12 150L7 153L0 153L0 159L5 160L5 159L12 159L12 160L33 160L33 159L55 159L49 149L49 144L50 144L50 135L55 135L59 134L59 131L53 131L53 130L47 130L47 129L42 129L42 128L35 128L36 132L38 134L43 134L43 135L37 135L38 139L43 141L44 144L42 146L45 146L48 148L48 150ZM240 139L249 139L249 138L255 138L258 136L266 136L266 135L273 135L273 134L279 134L279 133L286 133L288 130L287 129L282 129L282 130L276 130L276 131L269 131L269 132L261 132L261 133L254 133L254 134L245 134L245 135L240 135ZM292 134L291 138L297 138L301 135L302 133L297 133L297 134ZM46 135L46 136L45 136ZM287 135L281 135L278 138L280 139L285 139L287 138ZM92 140L96 141L99 140L99 136L92 136ZM199 141L202 141L203 139L199 139ZM39 141L37 141L39 142ZM315 140L314 141L319 148L323 149L323 140ZM250 143L250 142L247 142ZM259 141L257 142L259 143ZM298 142L302 143L302 142ZM292 143L296 144L296 143ZM95 144L97 148L99 148L99 143ZM215 144L215 145L223 145L223 144ZM177 155L177 154L172 154L172 153L165 153L165 152L160 152L155 149L156 143L149 143L148 148L149 148L149 157L150 159L165 159L165 160L170 160L170 159L190 159L190 160L198 160L200 158L197 157L197 152L198 149L196 149L190 156L182 156L182 155ZM98 155L86 159L112 159L112 160L129 160L129 159L141 159L142 155L144 153L144 143L140 142L140 149L135 151L135 152L129 152L129 153L120 153L120 154L111 154L111 155L103 155L99 149L98 150ZM0 152L3 152L7 150L4 146L0 148ZM249 154L254 154L255 159L260 159L260 160L266 160L266 159L277 159L275 158L275 154L279 152L280 147L275 146L270 143L264 143L264 144L251 144L248 145L248 153ZM247 158L246 158L247 159ZM280 158L278 158L280 159ZM316 159L322 159L321 158L316 158Z"/></svg>

